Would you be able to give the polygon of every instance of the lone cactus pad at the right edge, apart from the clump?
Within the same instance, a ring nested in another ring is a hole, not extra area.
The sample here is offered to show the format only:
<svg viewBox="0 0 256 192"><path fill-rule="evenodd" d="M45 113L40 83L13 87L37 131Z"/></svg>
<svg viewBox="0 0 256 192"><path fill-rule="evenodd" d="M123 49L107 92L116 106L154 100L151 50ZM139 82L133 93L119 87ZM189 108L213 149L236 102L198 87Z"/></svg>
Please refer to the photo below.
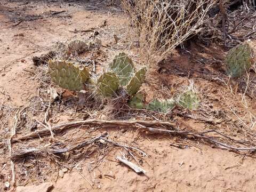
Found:
<svg viewBox="0 0 256 192"><path fill-rule="evenodd" d="M241 77L252 66L253 57L250 45L244 43L229 50L226 57L227 74Z"/></svg>

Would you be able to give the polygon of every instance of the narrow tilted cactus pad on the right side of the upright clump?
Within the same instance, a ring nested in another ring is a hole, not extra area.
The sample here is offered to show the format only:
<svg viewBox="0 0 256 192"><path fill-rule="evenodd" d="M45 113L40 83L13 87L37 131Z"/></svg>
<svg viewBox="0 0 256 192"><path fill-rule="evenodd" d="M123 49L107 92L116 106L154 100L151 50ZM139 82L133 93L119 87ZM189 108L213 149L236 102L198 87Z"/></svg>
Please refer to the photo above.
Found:
<svg viewBox="0 0 256 192"><path fill-rule="evenodd" d="M134 74L134 76L131 78L130 82L126 86L126 90L130 95L134 95L139 91L142 83L145 81L145 75L146 67L141 68Z"/></svg>

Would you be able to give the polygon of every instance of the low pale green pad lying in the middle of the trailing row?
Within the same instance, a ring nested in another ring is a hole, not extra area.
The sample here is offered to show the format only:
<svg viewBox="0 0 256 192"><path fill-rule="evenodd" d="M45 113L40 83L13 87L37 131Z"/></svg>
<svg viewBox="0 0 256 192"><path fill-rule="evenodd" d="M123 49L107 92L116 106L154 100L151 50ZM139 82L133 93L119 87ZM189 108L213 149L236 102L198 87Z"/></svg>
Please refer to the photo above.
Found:
<svg viewBox="0 0 256 192"><path fill-rule="evenodd" d="M176 102L174 101L174 99L166 99L163 101L155 99L148 104L147 110L167 113L169 110L172 110L175 105Z"/></svg>

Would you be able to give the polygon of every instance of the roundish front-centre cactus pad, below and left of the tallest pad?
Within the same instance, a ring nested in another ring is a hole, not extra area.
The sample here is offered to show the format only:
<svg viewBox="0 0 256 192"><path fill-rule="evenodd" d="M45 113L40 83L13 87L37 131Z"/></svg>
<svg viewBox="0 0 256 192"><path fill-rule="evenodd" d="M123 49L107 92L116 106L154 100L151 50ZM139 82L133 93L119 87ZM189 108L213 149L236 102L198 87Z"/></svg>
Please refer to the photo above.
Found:
<svg viewBox="0 0 256 192"><path fill-rule="evenodd" d="M120 85L119 78L115 73L103 73L96 82L97 93L103 98L111 97L115 94Z"/></svg>

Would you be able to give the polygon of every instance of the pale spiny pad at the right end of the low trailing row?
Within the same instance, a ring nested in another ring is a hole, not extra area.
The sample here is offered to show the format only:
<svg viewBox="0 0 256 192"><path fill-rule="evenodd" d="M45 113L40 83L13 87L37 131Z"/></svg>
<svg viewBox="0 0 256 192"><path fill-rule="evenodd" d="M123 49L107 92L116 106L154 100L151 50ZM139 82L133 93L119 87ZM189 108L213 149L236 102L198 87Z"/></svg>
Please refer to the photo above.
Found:
<svg viewBox="0 0 256 192"><path fill-rule="evenodd" d="M178 105L189 110L196 110L199 107L199 102L197 93L190 89L183 92L178 98Z"/></svg>

